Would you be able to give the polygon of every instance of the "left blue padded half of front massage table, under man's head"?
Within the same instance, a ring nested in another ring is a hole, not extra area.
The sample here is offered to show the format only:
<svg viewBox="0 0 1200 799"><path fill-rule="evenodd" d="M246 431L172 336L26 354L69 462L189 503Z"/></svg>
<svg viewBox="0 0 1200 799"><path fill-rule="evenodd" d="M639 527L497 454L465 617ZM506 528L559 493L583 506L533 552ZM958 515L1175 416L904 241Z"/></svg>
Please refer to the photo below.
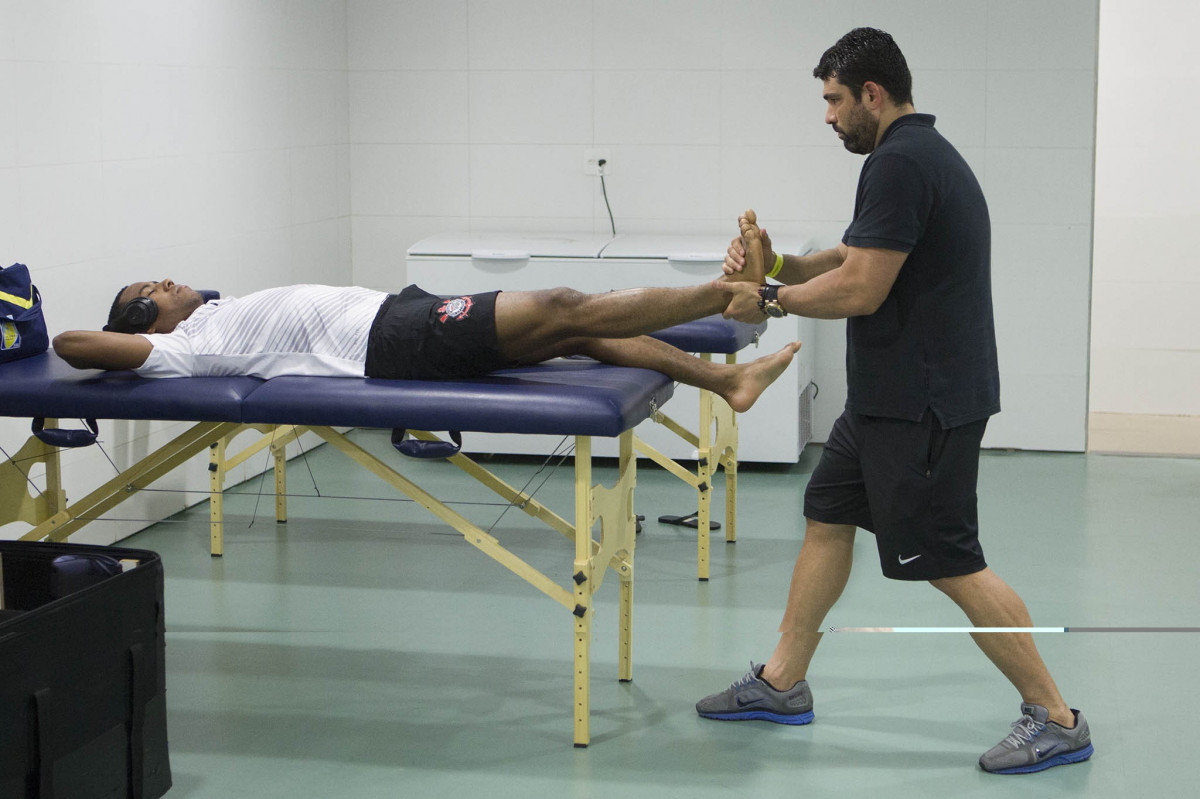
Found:
<svg viewBox="0 0 1200 799"><path fill-rule="evenodd" d="M142 378L72 368L53 350L0 365L0 415L241 421L258 378Z"/></svg>

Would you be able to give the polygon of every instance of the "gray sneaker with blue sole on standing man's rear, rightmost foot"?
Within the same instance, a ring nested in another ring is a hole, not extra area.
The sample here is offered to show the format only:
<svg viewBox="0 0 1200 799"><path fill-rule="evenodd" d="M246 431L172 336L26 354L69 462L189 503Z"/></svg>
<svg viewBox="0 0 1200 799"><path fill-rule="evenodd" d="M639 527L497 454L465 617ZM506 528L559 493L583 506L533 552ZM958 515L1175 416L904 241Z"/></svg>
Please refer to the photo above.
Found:
<svg viewBox="0 0 1200 799"><path fill-rule="evenodd" d="M1030 774L1079 763L1092 756L1092 734L1087 720L1079 710L1075 727L1066 727L1050 721L1050 711L1039 704L1022 704L1024 714L1013 722L1013 732L979 758L979 768L992 774Z"/></svg>

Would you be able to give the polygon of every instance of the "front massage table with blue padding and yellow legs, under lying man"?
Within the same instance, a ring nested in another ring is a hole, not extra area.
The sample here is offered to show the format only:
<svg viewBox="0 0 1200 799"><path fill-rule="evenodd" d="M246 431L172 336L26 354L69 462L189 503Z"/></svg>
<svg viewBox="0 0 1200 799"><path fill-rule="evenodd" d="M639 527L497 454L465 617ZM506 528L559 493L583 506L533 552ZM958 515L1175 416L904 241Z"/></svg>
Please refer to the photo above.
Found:
<svg viewBox="0 0 1200 799"><path fill-rule="evenodd" d="M448 382L313 377L144 379L131 372L73 370L50 352L0 366L0 383L4 385L0 415L44 420L41 435L52 441L32 437L11 461L0 464L0 509L5 515L0 524L11 521L31 524L32 529L22 536L24 540L68 539L89 519L106 513L205 449L210 450L212 488L218 497L223 467L215 450L223 441L247 427L265 428L272 431L269 445L278 452L281 441L311 431L428 509L469 543L571 613L576 746L587 746L590 739L592 618L596 591L608 569L617 572L619 581L618 679L632 679L637 463L632 428L660 413L659 408L673 394L672 383L658 372L562 360ZM55 437L67 434L55 426L55 420L64 417L169 420L192 425L104 485L68 503L55 445ZM410 434L419 431L416 439L433 446L445 445L428 431L574 437L572 521L506 485L462 453L449 458L488 489L572 541L575 560L566 587L504 548L494 536L337 432L335 426L407 428ZM619 441L617 477L611 486L593 482L594 437ZM40 463L46 470L46 489L36 495L30 492L30 463ZM593 533L598 524L598 533Z"/></svg>

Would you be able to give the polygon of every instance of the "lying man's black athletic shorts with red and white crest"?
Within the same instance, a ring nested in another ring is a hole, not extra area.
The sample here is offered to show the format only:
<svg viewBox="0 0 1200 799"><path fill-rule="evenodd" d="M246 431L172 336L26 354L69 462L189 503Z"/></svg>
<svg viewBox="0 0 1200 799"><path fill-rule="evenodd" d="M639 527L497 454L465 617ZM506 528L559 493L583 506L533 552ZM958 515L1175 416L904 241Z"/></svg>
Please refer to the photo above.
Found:
<svg viewBox="0 0 1200 799"><path fill-rule="evenodd" d="M515 366L497 347L497 294L440 298L409 286L389 295L371 324L366 376L437 380Z"/></svg>

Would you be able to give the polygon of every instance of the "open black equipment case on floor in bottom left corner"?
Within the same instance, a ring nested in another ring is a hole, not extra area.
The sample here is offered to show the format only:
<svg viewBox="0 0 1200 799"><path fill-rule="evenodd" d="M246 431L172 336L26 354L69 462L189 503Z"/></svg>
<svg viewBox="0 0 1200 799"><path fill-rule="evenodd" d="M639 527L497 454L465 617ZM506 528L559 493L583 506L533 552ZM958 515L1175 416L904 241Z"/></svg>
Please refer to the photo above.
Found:
<svg viewBox="0 0 1200 799"><path fill-rule="evenodd" d="M0 541L0 797L167 793L162 588L154 552Z"/></svg>

